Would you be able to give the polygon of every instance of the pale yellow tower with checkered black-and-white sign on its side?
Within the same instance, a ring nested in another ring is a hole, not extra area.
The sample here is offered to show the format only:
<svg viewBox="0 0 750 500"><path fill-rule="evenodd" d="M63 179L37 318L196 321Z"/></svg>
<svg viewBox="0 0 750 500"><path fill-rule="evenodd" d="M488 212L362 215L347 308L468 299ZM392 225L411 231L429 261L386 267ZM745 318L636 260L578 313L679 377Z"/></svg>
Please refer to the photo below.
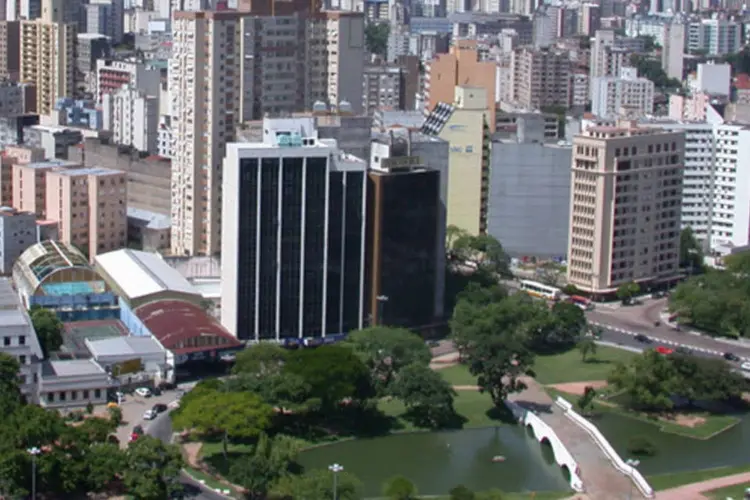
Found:
<svg viewBox="0 0 750 500"><path fill-rule="evenodd" d="M447 223L471 234L487 230L490 120L487 91L459 86L453 103L438 103L422 126L449 143Z"/></svg>

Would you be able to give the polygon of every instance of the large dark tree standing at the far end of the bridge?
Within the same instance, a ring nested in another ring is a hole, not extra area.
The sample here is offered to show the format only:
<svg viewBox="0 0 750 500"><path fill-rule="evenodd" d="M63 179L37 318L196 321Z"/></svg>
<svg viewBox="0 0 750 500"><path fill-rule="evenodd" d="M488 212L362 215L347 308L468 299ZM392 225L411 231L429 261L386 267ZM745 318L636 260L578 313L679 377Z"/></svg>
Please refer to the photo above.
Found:
<svg viewBox="0 0 750 500"><path fill-rule="evenodd" d="M484 306L462 300L454 311L451 330L461 359L495 406L526 388L521 377L534 362L529 333L541 314L530 304L528 297L517 294Z"/></svg>

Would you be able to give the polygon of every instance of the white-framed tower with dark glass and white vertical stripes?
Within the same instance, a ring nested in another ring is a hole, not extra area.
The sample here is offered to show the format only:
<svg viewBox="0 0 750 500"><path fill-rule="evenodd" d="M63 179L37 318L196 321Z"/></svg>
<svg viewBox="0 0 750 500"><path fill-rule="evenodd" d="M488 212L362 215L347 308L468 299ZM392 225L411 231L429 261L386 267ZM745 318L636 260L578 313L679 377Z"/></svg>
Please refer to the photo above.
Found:
<svg viewBox="0 0 750 500"><path fill-rule="evenodd" d="M367 163L312 118L267 119L224 160L221 322L243 340L364 325Z"/></svg>

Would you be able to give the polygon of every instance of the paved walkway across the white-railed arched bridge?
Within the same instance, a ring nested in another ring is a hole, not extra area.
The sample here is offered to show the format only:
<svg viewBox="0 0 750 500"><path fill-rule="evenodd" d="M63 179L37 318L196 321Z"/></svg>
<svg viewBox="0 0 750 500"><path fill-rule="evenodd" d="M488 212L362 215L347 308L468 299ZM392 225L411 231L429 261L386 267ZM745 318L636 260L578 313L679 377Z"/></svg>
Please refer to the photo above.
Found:
<svg viewBox="0 0 750 500"><path fill-rule="evenodd" d="M627 500L631 498L629 496L631 492L632 498L643 498L630 478L612 466L609 458L594 440L555 406L552 398L536 380L524 377L524 383L528 388L521 393L511 394L508 399L527 410L534 411L539 418L552 427L560 441L578 462L588 498L591 500ZM682 500L685 500L685 497Z"/></svg>

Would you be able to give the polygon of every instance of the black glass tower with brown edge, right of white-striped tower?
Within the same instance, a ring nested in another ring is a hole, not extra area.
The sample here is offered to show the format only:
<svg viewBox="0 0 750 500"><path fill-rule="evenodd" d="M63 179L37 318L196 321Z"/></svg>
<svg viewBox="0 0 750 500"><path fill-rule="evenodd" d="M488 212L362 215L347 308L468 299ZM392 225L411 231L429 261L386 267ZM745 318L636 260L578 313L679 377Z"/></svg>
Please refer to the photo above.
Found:
<svg viewBox="0 0 750 500"><path fill-rule="evenodd" d="M366 305L371 324L426 328L442 312L444 193L441 172L411 147L417 135L427 139L383 134L372 144Z"/></svg>

